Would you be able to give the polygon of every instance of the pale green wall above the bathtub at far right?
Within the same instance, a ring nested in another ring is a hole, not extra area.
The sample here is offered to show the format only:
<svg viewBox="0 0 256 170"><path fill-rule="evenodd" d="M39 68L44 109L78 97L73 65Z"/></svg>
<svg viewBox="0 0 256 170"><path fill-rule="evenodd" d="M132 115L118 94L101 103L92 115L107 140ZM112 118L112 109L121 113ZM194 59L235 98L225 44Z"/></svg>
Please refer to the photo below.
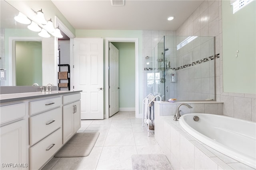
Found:
<svg viewBox="0 0 256 170"><path fill-rule="evenodd" d="M230 1L222 1L224 92L256 93L255 9L253 1L233 14Z"/></svg>

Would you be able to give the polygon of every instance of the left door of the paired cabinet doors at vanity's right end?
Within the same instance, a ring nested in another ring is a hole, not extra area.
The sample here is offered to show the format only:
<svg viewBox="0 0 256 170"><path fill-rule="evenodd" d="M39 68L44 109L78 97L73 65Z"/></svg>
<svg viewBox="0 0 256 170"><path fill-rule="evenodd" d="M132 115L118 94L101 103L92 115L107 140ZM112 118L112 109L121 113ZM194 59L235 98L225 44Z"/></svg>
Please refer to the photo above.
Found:
<svg viewBox="0 0 256 170"><path fill-rule="evenodd" d="M63 144L74 134L74 105L63 106Z"/></svg>

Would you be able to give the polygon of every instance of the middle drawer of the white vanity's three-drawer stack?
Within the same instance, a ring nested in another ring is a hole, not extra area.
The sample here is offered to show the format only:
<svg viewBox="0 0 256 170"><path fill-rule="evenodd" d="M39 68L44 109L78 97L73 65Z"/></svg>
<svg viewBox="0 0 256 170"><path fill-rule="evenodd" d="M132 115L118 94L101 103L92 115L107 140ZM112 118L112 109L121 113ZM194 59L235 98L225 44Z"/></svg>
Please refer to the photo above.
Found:
<svg viewBox="0 0 256 170"><path fill-rule="evenodd" d="M62 107L29 118L30 145L62 126Z"/></svg>

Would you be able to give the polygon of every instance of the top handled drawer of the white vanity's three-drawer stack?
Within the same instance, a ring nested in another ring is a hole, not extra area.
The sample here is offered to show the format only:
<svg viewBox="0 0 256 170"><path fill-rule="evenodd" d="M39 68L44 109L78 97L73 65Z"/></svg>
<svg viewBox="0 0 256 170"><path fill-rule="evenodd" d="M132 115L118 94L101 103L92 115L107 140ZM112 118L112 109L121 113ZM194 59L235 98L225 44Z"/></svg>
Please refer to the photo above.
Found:
<svg viewBox="0 0 256 170"><path fill-rule="evenodd" d="M29 102L30 104L30 115L52 109L61 105L61 97L48 98L44 100L38 100L34 102Z"/></svg>

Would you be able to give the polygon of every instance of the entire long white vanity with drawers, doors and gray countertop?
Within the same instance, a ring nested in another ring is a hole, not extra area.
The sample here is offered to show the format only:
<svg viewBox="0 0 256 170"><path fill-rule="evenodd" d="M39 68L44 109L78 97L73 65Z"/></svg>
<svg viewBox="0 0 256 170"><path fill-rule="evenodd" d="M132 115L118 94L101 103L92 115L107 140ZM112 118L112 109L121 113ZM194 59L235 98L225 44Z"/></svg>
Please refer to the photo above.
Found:
<svg viewBox="0 0 256 170"><path fill-rule="evenodd" d="M0 95L0 169L42 168L81 127L80 92Z"/></svg>

